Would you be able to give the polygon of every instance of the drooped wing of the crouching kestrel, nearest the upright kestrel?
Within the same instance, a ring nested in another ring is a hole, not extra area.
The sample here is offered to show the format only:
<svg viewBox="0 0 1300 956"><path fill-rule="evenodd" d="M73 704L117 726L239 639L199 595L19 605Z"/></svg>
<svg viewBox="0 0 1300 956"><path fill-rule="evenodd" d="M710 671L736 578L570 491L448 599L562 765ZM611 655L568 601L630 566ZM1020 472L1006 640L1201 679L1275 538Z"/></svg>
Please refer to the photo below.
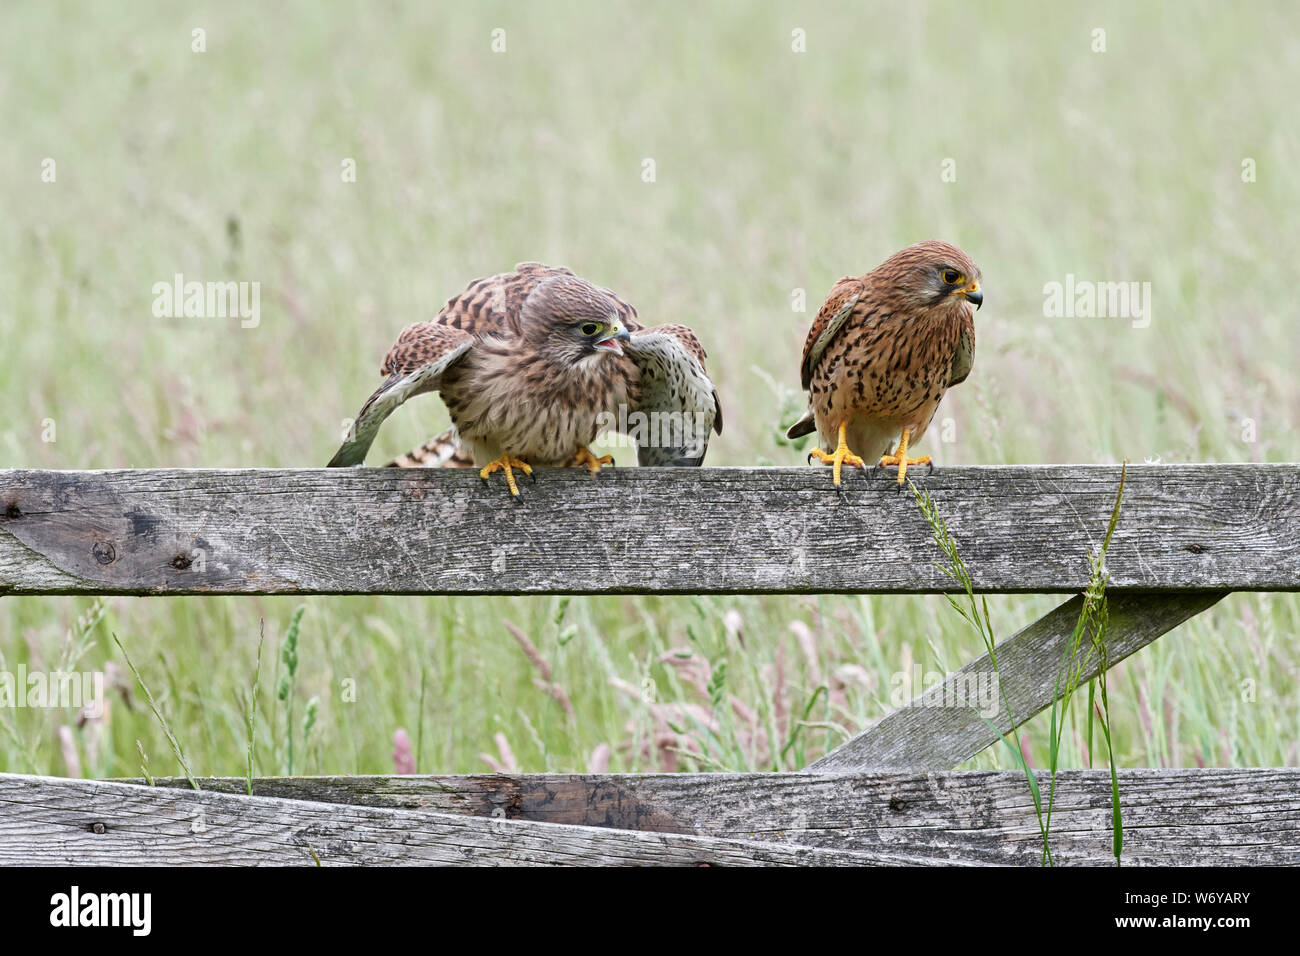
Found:
<svg viewBox="0 0 1300 956"><path fill-rule="evenodd" d="M625 425L637 442L637 464L702 464L710 432L723 432L723 410L696 333L655 325L634 332L623 349L641 369L641 401Z"/></svg>

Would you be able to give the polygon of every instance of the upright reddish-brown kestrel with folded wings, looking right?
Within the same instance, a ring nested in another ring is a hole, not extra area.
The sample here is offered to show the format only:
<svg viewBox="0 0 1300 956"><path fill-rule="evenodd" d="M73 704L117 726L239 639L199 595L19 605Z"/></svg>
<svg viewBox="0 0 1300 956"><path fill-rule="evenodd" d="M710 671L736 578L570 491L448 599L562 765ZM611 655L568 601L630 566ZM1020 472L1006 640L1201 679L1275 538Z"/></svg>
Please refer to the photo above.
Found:
<svg viewBox="0 0 1300 956"><path fill-rule="evenodd" d="M907 446L920 441L944 393L966 381L975 356L975 308L984 302L975 263L946 242L918 242L894 252L866 276L835 284L803 345L801 376L809 411L786 434L816 431L840 484L844 464L880 458L909 464ZM971 308L971 306L975 308ZM893 454L894 437L898 447Z"/></svg>

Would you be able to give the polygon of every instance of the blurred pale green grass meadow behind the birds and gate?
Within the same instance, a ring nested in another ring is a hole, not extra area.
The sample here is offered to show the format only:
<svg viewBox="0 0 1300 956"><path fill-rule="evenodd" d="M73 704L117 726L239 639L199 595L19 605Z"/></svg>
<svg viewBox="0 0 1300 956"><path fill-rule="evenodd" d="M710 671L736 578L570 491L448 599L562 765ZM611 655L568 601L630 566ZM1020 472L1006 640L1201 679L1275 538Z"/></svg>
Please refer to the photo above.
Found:
<svg viewBox="0 0 1300 956"><path fill-rule="evenodd" d="M989 306L975 372L922 449L941 464L1295 460L1290 12L5 4L0 466L322 464L395 333L528 259L698 330L727 408L711 464L794 464L777 436L818 304L923 238L971 254ZM178 272L260 282L260 325L155 319L152 286ZM1150 326L1045 319L1043 286L1067 273L1150 282ZM372 462L445 423L437 399L402 408ZM135 774L139 741L153 774L177 771L116 632L194 771L242 774L263 618L257 766L286 770L276 689L296 604L0 600L0 669L121 680L84 726L0 710L0 770ZM991 601L1001 636L1054 604ZM942 598L306 605L294 769L309 773L391 770L398 728L422 771L796 769L887 713L898 675L980 650ZM1121 665L1119 762L1300 761L1297 609L1236 594ZM1026 736L1041 766L1045 724ZM1065 758L1087 765L1078 734Z"/></svg>

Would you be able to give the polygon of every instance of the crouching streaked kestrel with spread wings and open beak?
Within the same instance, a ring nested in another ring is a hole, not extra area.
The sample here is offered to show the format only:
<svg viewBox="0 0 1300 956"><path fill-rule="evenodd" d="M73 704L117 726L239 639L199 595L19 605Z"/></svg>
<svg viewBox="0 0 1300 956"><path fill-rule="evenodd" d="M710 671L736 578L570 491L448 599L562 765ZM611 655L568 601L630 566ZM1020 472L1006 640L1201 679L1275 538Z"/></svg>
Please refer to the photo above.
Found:
<svg viewBox="0 0 1300 956"><path fill-rule="evenodd" d="M452 451L484 480L503 471L514 496L515 468L611 464L589 447L604 431L630 434L642 466L697 466L723 427L690 329L644 328L608 289L541 263L471 282L433 321L403 329L380 372L329 467L361 464L384 419L425 392L451 414Z"/></svg>

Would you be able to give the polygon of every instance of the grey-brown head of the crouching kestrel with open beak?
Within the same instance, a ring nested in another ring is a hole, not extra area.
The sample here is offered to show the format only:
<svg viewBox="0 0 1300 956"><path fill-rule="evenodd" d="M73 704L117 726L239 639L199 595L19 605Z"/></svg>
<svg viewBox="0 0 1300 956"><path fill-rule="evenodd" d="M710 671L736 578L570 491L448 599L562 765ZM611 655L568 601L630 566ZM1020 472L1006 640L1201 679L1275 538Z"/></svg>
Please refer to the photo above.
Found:
<svg viewBox="0 0 1300 956"><path fill-rule="evenodd" d="M524 302L521 324L528 345L562 368L623 355L619 343L630 338L618 299L577 276L541 282Z"/></svg>

